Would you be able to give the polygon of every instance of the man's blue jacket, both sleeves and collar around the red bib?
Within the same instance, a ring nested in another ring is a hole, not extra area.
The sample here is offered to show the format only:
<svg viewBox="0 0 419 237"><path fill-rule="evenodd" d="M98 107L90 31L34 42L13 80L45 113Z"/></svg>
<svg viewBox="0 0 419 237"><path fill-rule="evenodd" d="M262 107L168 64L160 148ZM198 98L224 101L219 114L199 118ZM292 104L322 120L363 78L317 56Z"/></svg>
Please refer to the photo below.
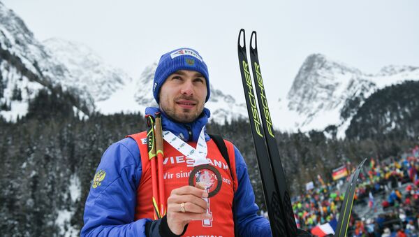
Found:
<svg viewBox="0 0 419 237"><path fill-rule="evenodd" d="M154 114L158 108L147 108ZM198 120L181 124L162 113L162 127L185 141L198 141L202 127L207 124L210 110L204 109ZM191 134L191 136L189 136ZM207 140L210 139L206 135ZM267 219L257 215L253 188L247 166L239 150L235 148L237 182L235 192L236 228L240 236L271 236ZM137 187L142 173L140 150L132 138L124 138L110 145L105 151L92 180L89 196L84 206L84 226L81 236L160 236L161 220L140 219L134 221ZM103 177L103 173L105 173ZM146 223L147 234L146 234Z"/></svg>

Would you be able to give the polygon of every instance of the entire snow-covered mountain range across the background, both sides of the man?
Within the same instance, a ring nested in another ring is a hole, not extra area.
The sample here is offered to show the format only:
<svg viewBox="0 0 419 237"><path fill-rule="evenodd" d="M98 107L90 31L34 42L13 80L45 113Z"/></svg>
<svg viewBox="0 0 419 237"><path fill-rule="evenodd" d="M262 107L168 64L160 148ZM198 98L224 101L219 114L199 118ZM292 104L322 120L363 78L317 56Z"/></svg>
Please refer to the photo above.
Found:
<svg viewBox="0 0 419 237"><path fill-rule="evenodd" d="M0 115L6 120L25 115L28 102L45 87L61 86L73 92L86 103L86 114L143 112L146 106L156 106L151 89L156 63L132 79L80 43L36 41L24 22L2 3L0 33ZM269 102L272 120L277 129L291 132L323 130L334 124L341 137L368 96L408 79L419 79L418 67L385 66L373 75L324 55L309 55L288 96ZM242 101L214 87L211 93L206 106L212 111L212 121L247 117ZM75 105L75 110L80 109Z"/></svg>

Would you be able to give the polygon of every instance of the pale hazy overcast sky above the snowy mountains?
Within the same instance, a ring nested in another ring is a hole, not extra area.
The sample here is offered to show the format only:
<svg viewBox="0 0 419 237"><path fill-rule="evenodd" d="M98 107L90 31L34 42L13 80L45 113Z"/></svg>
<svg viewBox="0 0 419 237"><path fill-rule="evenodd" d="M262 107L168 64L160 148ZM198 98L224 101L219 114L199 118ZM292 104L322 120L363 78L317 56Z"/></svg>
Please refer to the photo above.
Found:
<svg viewBox="0 0 419 237"><path fill-rule="evenodd" d="M322 53L367 73L419 66L419 1L0 0L39 41L84 43L134 79L169 50L196 48L210 81L244 101L237 35L258 32L270 100L284 98L304 59Z"/></svg>

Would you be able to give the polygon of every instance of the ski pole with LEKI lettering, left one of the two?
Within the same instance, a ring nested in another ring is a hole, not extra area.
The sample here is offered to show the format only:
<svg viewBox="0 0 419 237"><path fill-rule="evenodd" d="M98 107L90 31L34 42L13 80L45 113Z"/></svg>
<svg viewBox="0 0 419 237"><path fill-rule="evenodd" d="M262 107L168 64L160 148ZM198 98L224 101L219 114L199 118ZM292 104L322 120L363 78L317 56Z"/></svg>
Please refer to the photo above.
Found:
<svg viewBox="0 0 419 237"><path fill-rule="evenodd" d="M149 161L152 166L152 189L153 189L153 196L152 196L152 203L154 209L154 220L158 220L161 218L159 213L159 194L158 194L158 187L157 187L157 169L156 169L156 141L154 137L154 117L152 115L145 115L145 119L147 120L147 150L149 154Z"/></svg>

